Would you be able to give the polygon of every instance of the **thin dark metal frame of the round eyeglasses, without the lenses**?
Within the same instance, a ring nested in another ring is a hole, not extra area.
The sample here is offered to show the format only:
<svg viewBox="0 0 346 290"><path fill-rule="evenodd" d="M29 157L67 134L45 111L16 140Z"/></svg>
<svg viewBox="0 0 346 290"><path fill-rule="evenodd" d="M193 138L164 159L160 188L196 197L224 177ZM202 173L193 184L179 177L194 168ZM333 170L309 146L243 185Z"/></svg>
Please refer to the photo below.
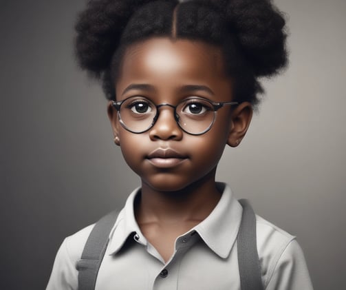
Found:
<svg viewBox="0 0 346 290"><path fill-rule="evenodd" d="M160 115L160 107L163 107L163 106L169 106L169 107L173 107L174 109L174 119L175 119L175 122L177 123L177 125L180 127L181 130L183 130L184 132L186 132L187 134L190 134L190 135L202 135L206 132L208 132L211 127L213 127L214 123L215 123L215 119L216 119L216 115L217 115L217 110L221 109L221 107L224 107L224 105L238 105L239 103L238 102L213 102L213 101L210 101L208 99L204 99L204 98L200 98L200 97L195 97L195 98L188 98L188 99L184 99L182 102L180 103L183 103L183 102L186 102L188 100L202 100L202 101L206 101L208 103L210 103L210 105L213 106L213 109L214 109L214 116L213 116L213 121L210 123L210 125L206 128L206 130L202 131L202 132L199 132L199 133L191 133L191 132L188 132L184 129L184 127L182 127L182 125L180 125L179 123L179 115L177 114L177 106L180 105L180 103L178 103L177 105L171 105L169 103L162 103L162 104L159 104L159 105L155 105L155 103L153 103L153 101L150 101L149 99L147 98L143 98L143 99L146 99L149 103L152 103L155 107L156 107L156 113L155 113L155 116L153 117L153 121L151 122L151 125L149 125L149 127L146 129L146 130L143 130L143 131L140 131L140 132L134 132L132 130L129 129L129 127L127 127L127 125L125 125L125 123L122 121L122 118L121 118L121 115L120 115L120 108L121 108L121 105L122 103L124 103L125 101L127 101L128 99L131 99L133 98L132 96L130 96L129 98L125 99L125 100L122 100L122 101L112 101L111 102L111 105L113 105L113 107L116 108L117 112L118 112L118 119L120 121L120 124L122 125L122 127L125 128L125 130L133 133L133 134L142 134L144 132L147 132L149 131L153 125L155 125L156 121L158 121L158 117Z"/></svg>

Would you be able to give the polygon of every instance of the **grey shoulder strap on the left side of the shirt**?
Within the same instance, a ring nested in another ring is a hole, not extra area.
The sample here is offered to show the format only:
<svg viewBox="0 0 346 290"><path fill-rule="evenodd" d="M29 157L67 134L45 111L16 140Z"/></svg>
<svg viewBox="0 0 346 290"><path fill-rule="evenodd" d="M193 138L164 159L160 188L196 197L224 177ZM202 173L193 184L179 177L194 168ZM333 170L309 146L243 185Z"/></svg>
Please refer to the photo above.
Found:
<svg viewBox="0 0 346 290"><path fill-rule="evenodd" d="M112 211L107 216L98 220L91 230L82 256L76 265L76 269L78 270L78 290L95 289L98 269L100 269L103 256L105 256L109 233L117 217L118 211Z"/></svg>

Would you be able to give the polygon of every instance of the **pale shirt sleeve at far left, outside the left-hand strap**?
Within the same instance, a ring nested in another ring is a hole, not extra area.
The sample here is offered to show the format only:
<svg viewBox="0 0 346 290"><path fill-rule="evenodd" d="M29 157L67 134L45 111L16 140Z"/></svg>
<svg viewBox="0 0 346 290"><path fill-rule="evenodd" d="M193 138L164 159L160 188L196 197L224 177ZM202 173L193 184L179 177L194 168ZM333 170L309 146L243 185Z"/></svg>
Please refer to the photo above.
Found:
<svg viewBox="0 0 346 290"><path fill-rule="evenodd" d="M67 238L61 244L56 258L50 280L46 290L76 290L78 288L78 271L69 256Z"/></svg>

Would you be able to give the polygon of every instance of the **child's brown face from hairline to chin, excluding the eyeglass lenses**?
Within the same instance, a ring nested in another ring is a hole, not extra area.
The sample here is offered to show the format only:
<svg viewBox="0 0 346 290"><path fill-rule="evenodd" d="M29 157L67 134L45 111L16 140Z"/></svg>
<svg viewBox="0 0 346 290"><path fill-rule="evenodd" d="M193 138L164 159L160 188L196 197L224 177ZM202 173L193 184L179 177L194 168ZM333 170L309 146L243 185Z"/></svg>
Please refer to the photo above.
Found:
<svg viewBox="0 0 346 290"><path fill-rule="evenodd" d="M218 48L199 41L153 38L127 48L116 81L116 96L117 101L144 96L156 105L177 105L191 96L230 102L233 86L224 73ZM233 136L237 121L231 117L230 106L221 107L213 127L197 136L181 130L172 107L162 106L159 112L150 130L134 134L120 125L116 110L109 105L122 154L142 183L159 191L177 191L203 178L214 180L225 145L235 145L238 138ZM171 152L164 156L167 149Z"/></svg>

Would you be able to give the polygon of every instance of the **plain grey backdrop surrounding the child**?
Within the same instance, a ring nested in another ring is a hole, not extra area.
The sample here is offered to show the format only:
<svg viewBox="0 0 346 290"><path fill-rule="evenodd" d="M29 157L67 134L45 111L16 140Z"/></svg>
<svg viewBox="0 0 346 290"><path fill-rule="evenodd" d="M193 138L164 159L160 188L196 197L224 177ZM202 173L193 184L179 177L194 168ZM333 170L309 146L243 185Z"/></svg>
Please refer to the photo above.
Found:
<svg viewBox="0 0 346 290"><path fill-rule="evenodd" d="M43 289L63 237L139 185L100 87L73 60L83 2L0 1L0 289ZM288 13L290 68L265 82L218 179L298 236L315 289L346 289L346 1L275 2Z"/></svg>

